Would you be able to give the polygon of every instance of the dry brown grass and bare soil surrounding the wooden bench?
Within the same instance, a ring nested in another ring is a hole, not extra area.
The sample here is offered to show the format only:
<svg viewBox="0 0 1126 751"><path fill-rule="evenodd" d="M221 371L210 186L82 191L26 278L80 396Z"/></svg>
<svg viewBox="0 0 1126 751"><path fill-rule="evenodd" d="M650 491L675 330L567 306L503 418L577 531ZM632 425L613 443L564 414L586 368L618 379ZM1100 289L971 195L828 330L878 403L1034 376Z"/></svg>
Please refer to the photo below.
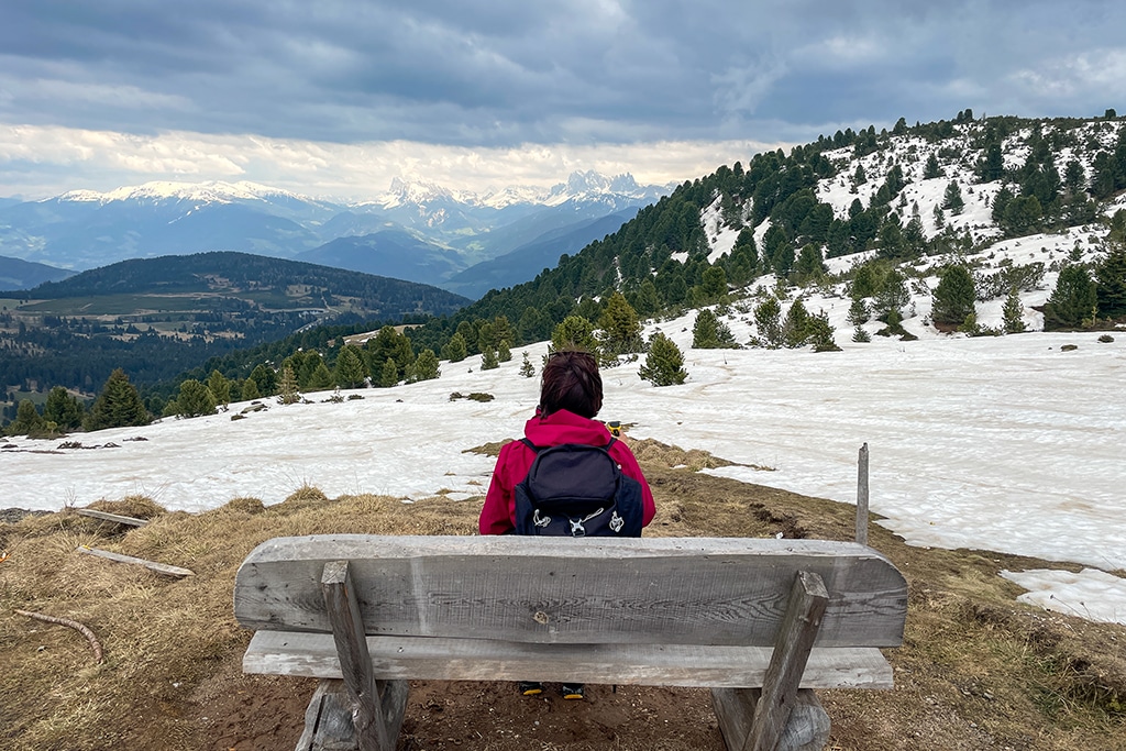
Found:
<svg viewBox="0 0 1126 751"><path fill-rule="evenodd" d="M716 461L703 453L655 441L631 445L659 506L646 535L848 539L852 534L851 507L673 468ZM499 444L482 447L498 449ZM125 528L57 513L0 525L0 552L9 555L0 563L0 748L292 746L311 686L240 674L249 634L233 619L231 594L247 553L280 535L471 535L481 499L328 499L302 488L272 507L239 498L199 515L164 512L144 498L98 506L150 524ZM909 581L905 642L888 652L896 689L823 692L833 718L830 748L1126 748L1126 628L1020 605L1019 588L998 575L1002 569L1049 564L910 547L875 525L870 542ZM80 544L186 566L195 575L167 579L75 555ZM18 616L16 609L86 624L105 646L105 663L93 663L77 632ZM418 687L404 748L455 748L447 737L464 742L461 748L486 748L482 735L490 728L488 748L500 751L721 748L706 697L698 692L607 692L581 709L536 705L535 712L551 710L535 715L537 722L556 723L557 735L540 745L526 735L521 743L518 728L512 737L499 730L498 716L518 723L520 717L510 715L531 709L512 708L494 694L488 687ZM483 703L497 712L490 715ZM588 725L601 735L581 730Z"/></svg>

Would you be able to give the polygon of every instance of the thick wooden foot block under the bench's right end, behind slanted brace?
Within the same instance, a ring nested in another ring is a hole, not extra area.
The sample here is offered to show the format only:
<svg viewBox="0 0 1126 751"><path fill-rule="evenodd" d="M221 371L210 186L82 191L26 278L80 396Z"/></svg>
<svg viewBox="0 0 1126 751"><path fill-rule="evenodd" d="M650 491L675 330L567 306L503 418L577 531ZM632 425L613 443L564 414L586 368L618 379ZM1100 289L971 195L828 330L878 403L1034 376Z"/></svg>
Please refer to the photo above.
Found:
<svg viewBox="0 0 1126 751"><path fill-rule="evenodd" d="M742 751L751 734L758 688L713 688L712 704L720 721L727 751ZM797 692L786 726L778 736L778 751L821 751L829 743L830 722L817 695L803 688Z"/></svg>

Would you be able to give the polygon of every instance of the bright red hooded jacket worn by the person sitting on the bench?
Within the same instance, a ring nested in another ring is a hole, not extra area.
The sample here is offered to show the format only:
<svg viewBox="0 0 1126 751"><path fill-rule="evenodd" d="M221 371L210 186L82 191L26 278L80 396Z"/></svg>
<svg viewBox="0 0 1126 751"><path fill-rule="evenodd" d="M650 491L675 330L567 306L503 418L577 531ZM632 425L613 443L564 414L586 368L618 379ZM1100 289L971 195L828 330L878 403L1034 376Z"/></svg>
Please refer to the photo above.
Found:
<svg viewBox="0 0 1126 751"><path fill-rule="evenodd" d="M610 431L597 420L588 420L573 412L560 410L542 418L536 415L524 426L524 435L536 446L558 446L560 444L587 444L589 446L606 446L610 441ZM622 472L641 483L644 512L642 525L647 525L656 513L653 504L653 491L645 482L645 475L637 466L637 459L625 442L617 440L610 446L610 457L622 467ZM528 470L536 458L536 453L513 440L500 449L497 457L497 468L493 470L485 504L481 509L477 526L482 535L503 535L516 529L516 486L528 476Z"/></svg>

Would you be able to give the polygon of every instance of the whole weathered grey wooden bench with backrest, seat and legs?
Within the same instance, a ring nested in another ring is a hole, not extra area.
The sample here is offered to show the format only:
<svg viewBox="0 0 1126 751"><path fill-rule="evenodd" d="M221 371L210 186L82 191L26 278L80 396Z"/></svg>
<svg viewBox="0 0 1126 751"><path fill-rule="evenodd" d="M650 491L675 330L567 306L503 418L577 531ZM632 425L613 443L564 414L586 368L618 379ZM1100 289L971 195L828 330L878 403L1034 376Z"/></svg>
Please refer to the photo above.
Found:
<svg viewBox="0 0 1126 751"><path fill-rule="evenodd" d="M906 584L855 543L318 535L259 545L234 611L244 672L330 679L298 749L391 751L420 679L707 687L727 749L805 750L812 689L892 687Z"/></svg>

